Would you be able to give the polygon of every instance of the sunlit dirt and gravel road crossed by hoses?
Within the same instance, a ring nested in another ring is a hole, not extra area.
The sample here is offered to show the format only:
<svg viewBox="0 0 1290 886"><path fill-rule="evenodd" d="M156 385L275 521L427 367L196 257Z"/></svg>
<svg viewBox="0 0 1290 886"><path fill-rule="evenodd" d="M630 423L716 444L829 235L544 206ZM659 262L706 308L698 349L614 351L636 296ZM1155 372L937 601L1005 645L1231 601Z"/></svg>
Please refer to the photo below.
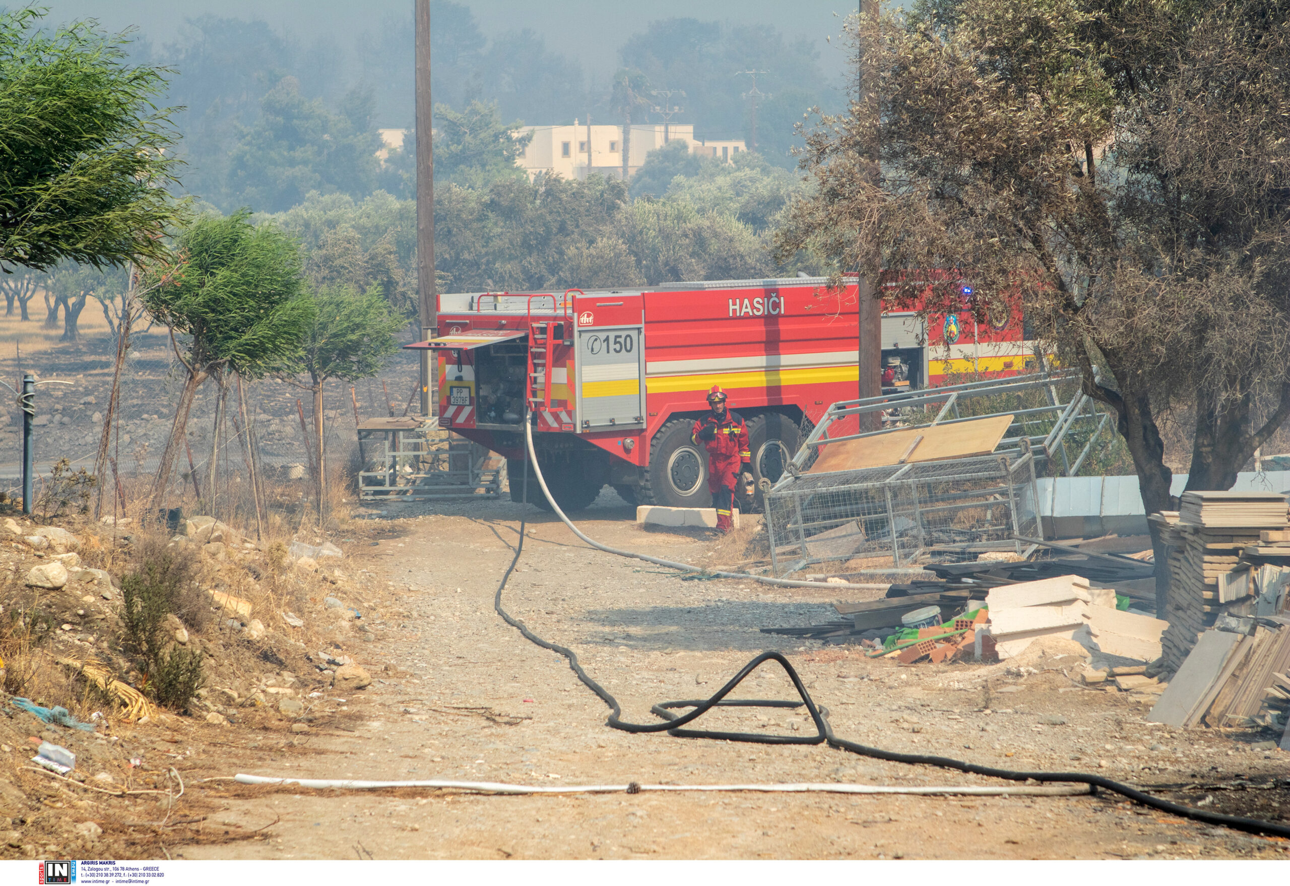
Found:
<svg viewBox="0 0 1290 886"><path fill-rule="evenodd" d="M822 745L773 747L630 735L565 662L493 611L517 540L510 502L387 509L377 543L347 547L379 600L362 613L369 642L346 650L375 678L361 693L311 699L307 734L227 748L221 765L258 775L461 779L528 784L855 782L998 784L884 763ZM580 524L609 544L702 560L713 542L631 522L605 493ZM836 591L682 582L668 570L587 548L530 511L524 557L504 604L537 633L574 647L587 671L651 722L651 704L702 698L753 654L789 653L838 735L1014 769L1096 770L1211 809L1290 814L1286 758L1245 736L1179 733L1143 721L1126 698L1076 686L1062 662L913 665L849 647L759 632L833 615ZM724 551L722 556L734 556ZM853 597L848 597L853 598ZM343 601L350 604L351 601ZM1013 668L1015 671L1015 668ZM771 667L744 696L792 698ZM713 727L799 734L804 714L713 714ZM1063 721L1064 722L1060 722ZM326 725L330 724L330 725ZM1268 789L1233 789L1276 785ZM1209 798L1209 800L1206 800ZM485 797L406 789L313 792L231 787L210 823L267 840L173 849L177 858L1285 858L1285 841L1196 825L1093 797L848 797L838 794L601 794ZM208 824L210 824L208 823Z"/></svg>

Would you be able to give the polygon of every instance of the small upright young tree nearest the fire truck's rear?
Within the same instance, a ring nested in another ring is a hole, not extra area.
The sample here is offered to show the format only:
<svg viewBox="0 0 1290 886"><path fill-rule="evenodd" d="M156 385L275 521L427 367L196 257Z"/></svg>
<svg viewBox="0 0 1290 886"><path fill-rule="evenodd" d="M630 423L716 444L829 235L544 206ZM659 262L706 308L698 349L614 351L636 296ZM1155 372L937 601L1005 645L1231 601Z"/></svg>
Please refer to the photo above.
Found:
<svg viewBox="0 0 1290 886"><path fill-rule="evenodd" d="M330 379L356 382L370 378L397 351L395 334L408 325L405 317L390 311L379 288L361 295L348 285L332 285L310 294L311 319L304 330L299 368L310 377L313 402L313 444L317 459L319 517L326 490L326 433L322 423L322 386Z"/></svg>

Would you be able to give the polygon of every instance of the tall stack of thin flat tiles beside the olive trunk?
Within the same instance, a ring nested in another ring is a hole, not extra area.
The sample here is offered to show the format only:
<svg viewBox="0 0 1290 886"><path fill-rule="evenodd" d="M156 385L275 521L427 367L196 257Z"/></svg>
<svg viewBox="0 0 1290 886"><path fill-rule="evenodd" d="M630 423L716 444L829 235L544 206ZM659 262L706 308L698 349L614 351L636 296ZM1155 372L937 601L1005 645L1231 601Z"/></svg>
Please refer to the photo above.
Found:
<svg viewBox="0 0 1290 886"><path fill-rule="evenodd" d="M1183 493L1182 511L1152 515L1169 544L1170 589L1161 638L1165 671L1182 667L1197 637L1224 613L1245 614L1247 600L1224 602L1220 580L1264 530L1282 530L1286 497L1276 493Z"/></svg>

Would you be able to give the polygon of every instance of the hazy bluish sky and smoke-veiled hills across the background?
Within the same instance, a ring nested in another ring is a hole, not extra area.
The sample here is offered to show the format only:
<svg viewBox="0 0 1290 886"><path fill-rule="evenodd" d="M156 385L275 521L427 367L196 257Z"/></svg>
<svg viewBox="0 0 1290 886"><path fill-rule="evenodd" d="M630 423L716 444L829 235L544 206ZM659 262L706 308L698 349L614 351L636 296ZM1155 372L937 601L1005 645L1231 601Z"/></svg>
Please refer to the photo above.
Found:
<svg viewBox="0 0 1290 886"><path fill-rule="evenodd" d="M502 124L619 125L615 72L637 68L646 89L682 90L675 123L697 139L752 141L748 76L765 94L757 146L793 166L793 125L811 107L844 103L836 36L849 5L806 0L677 0L622 8L573 0L433 0L436 113L494 106ZM840 15L835 15L835 9ZM223 212L280 212L310 191L410 196L410 157L374 166L378 129L414 123L412 0L277 0L169 4L52 0L46 23L93 17L134 28L135 61L173 70L168 102L183 134L183 183ZM655 102L646 95L646 104ZM642 119L642 116L645 119ZM633 123L662 123L648 107ZM437 125L437 124L436 124ZM440 174L436 162L436 175Z"/></svg>

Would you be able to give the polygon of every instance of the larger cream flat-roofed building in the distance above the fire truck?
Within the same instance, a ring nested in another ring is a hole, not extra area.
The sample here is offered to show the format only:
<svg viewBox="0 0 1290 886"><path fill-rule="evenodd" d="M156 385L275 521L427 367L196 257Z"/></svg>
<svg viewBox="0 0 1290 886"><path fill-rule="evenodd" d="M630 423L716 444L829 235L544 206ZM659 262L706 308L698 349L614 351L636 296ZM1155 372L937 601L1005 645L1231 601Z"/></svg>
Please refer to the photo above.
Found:
<svg viewBox="0 0 1290 886"><path fill-rule="evenodd" d="M588 150L587 130L591 130ZM521 134L533 133L516 162L533 178L538 173L555 173L569 181L587 178L597 173L606 178L623 174L623 128L605 124L587 126L577 120L566 126L522 126ZM730 162L734 155L747 151L743 141L694 141L693 124L672 124L667 128L667 141L684 139L690 152ZM641 124L632 126L631 156L627 174L632 175L645 165L645 155L663 147L663 125Z"/></svg>

